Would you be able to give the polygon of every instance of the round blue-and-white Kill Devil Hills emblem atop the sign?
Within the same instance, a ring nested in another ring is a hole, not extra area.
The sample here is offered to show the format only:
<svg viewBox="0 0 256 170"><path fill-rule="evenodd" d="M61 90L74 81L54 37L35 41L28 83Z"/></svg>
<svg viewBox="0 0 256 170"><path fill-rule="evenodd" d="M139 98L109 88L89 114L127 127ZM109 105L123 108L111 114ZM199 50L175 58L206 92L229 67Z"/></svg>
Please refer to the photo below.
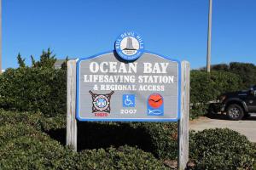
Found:
<svg viewBox="0 0 256 170"><path fill-rule="evenodd" d="M134 31L126 31L117 38L114 48L121 59L138 59L144 51L143 38Z"/></svg>

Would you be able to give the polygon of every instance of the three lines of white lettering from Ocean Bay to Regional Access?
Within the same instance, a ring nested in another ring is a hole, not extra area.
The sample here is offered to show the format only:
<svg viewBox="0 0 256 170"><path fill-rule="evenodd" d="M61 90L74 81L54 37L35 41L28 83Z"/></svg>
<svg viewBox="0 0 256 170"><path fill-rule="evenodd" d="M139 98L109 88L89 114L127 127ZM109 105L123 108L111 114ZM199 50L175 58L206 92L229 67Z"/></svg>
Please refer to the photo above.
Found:
<svg viewBox="0 0 256 170"><path fill-rule="evenodd" d="M138 66L136 62L91 62L89 70L92 74L84 75L83 82L96 83L94 90L165 91L164 84L177 80L177 77L168 72L168 65L169 63L144 62Z"/></svg>

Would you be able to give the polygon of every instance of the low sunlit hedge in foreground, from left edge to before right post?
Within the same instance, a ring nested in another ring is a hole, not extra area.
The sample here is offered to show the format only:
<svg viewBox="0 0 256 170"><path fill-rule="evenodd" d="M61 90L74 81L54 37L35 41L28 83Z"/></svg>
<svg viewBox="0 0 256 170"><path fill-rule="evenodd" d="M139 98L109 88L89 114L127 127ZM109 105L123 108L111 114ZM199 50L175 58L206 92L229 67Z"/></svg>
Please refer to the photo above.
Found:
<svg viewBox="0 0 256 170"><path fill-rule="evenodd" d="M32 126L0 127L1 169L168 169L151 153L128 145L75 153Z"/></svg>

